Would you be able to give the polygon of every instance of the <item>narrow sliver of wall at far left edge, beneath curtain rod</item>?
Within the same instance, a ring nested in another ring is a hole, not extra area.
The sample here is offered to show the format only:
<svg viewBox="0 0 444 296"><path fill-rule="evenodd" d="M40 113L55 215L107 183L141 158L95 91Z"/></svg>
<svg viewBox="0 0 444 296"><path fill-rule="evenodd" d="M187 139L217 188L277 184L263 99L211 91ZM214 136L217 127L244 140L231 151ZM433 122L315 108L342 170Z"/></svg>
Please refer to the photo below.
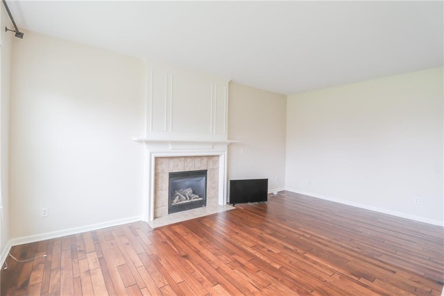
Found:
<svg viewBox="0 0 444 296"><path fill-rule="evenodd" d="M0 28L11 26L5 8L1 5ZM5 256L9 240L9 104L10 104L10 57L11 32L1 30L1 101L0 101L0 182L1 200L3 203L3 218L0 217L0 254ZM7 254L7 253L6 253ZM3 263L3 260L0 260Z"/></svg>

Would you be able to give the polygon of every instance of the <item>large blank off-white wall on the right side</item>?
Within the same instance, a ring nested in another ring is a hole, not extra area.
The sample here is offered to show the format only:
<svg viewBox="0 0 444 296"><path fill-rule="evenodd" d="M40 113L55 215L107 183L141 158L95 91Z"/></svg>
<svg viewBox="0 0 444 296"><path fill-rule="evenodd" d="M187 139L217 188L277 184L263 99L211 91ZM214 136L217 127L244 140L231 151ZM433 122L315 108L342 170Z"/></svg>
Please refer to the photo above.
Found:
<svg viewBox="0 0 444 296"><path fill-rule="evenodd" d="M286 188L442 224L443 68L289 96Z"/></svg>

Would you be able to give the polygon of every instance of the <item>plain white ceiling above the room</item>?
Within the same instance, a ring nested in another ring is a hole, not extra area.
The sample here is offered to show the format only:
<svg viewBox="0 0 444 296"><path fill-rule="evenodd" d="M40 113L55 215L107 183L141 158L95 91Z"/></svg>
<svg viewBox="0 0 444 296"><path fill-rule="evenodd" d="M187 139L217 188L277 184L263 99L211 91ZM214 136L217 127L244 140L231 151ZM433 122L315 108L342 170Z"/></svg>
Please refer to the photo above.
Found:
<svg viewBox="0 0 444 296"><path fill-rule="evenodd" d="M281 94L443 65L443 1L8 5L21 29Z"/></svg>

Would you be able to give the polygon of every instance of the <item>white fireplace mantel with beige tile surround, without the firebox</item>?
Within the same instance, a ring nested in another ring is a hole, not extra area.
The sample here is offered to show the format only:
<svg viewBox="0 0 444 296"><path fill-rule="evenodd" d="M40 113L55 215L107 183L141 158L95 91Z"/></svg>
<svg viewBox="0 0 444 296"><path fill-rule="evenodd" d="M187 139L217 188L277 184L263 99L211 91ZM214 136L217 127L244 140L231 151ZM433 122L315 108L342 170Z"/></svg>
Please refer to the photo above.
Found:
<svg viewBox="0 0 444 296"><path fill-rule="evenodd" d="M207 208L227 203L227 150L230 140L151 140L146 145L143 220L169 215L169 172L207 170Z"/></svg>

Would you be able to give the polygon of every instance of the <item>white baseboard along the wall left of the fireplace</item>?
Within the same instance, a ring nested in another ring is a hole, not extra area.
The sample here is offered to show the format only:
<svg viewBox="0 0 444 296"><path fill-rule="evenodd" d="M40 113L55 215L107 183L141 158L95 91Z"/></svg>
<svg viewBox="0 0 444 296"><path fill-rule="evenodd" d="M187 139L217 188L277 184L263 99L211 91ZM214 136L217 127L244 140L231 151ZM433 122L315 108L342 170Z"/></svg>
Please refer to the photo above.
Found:
<svg viewBox="0 0 444 296"><path fill-rule="evenodd" d="M118 226L121 224L127 224L131 222L141 221L142 216L135 216L129 218L123 218L118 220L112 220L108 222L90 224L82 227L74 227L70 229L63 229L59 231L51 231L46 233L35 234L33 236L23 236L22 238L12 238L8 240L6 247L1 252L1 263L2 265L5 263L6 256L8 256L8 252L10 252L11 247L16 245L24 245L30 242L39 242L40 240L50 240L51 238L60 238L62 236L71 236L72 234L83 233L86 231L94 231L97 229L103 229L107 227Z"/></svg>

